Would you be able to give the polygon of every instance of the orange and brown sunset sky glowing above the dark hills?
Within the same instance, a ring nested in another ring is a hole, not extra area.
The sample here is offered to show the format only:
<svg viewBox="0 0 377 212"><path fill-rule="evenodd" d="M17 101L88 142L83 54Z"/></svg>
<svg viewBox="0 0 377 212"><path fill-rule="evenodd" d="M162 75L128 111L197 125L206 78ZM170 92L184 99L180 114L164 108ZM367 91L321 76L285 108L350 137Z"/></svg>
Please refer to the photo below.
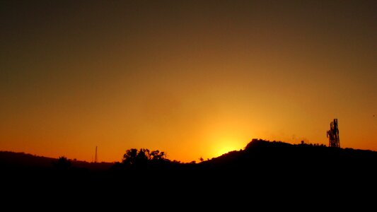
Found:
<svg viewBox="0 0 377 212"><path fill-rule="evenodd" d="M0 1L0 151L377 151L376 1ZM375 117L376 116L376 117Z"/></svg>

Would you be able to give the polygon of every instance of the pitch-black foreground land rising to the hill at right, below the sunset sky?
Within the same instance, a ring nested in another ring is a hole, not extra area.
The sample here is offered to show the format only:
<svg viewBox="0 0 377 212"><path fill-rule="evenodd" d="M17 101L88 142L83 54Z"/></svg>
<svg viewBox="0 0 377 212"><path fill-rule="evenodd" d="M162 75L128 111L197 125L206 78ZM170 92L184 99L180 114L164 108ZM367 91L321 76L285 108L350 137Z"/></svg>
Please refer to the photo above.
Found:
<svg viewBox="0 0 377 212"><path fill-rule="evenodd" d="M198 164L166 161L102 170L3 164L1 192L4 203L35 206L42 202L109 207L158 202L157 206L164 207L178 204L178 211L199 203L361 208L376 201L376 168L373 151L252 141L243 151Z"/></svg>

